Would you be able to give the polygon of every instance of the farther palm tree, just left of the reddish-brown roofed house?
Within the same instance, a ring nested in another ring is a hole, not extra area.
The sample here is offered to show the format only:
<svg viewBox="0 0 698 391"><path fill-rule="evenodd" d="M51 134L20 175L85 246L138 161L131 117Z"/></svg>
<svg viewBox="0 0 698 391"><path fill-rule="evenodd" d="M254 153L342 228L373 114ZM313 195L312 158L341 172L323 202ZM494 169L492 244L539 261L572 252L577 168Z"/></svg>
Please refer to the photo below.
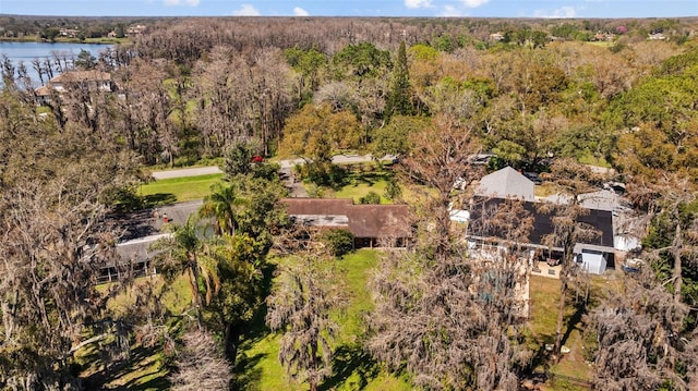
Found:
<svg viewBox="0 0 698 391"><path fill-rule="evenodd" d="M198 209L198 216L215 218L214 229L217 234L234 235L239 227L239 207L245 204L236 186L216 183L212 193L204 197L204 205Z"/></svg>

